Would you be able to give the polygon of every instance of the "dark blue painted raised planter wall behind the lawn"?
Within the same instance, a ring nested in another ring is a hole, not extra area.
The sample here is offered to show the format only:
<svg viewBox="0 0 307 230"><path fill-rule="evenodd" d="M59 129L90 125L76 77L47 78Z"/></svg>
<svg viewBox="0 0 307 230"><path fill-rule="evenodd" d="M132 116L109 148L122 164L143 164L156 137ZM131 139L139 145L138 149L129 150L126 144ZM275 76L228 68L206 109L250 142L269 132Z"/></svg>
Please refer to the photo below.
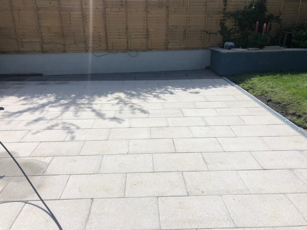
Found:
<svg viewBox="0 0 307 230"><path fill-rule="evenodd" d="M227 50L211 47L210 68L220 76L243 72L307 70L307 49Z"/></svg>

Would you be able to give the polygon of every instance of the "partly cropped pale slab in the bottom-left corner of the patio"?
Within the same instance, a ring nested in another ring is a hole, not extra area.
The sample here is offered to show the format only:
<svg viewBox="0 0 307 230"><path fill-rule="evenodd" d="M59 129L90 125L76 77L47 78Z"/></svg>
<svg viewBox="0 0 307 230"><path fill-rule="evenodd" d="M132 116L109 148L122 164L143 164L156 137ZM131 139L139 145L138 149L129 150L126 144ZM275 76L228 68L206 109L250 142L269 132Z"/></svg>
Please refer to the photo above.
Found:
<svg viewBox="0 0 307 230"><path fill-rule="evenodd" d="M24 205L25 202L0 202L1 230L8 230L11 228Z"/></svg>

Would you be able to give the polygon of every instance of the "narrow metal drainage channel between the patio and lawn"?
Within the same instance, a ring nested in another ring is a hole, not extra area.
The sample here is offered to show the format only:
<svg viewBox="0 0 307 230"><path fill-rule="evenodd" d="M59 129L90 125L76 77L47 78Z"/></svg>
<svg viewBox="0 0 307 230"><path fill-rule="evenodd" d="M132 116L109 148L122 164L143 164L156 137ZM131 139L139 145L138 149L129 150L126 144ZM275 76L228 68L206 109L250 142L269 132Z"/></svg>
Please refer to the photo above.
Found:
<svg viewBox="0 0 307 230"><path fill-rule="evenodd" d="M286 117L283 117L279 113L277 113L275 110L271 109L269 106L264 104L262 101L258 100L255 98L253 95L248 93L247 91L243 90L240 86L237 84L233 83L231 80L229 80L226 77L222 77L225 81L227 81L229 84L234 86L236 89L240 90L243 94L245 94L247 97L251 98L254 102L256 102L258 105L260 105L262 108L266 109L268 112L272 113L275 117L277 117L279 120L284 122L286 125L290 126L293 130L301 134L303 137L307 139L307 132L299 128L297 125L294 125L291 121L289 121Z"/></svg>

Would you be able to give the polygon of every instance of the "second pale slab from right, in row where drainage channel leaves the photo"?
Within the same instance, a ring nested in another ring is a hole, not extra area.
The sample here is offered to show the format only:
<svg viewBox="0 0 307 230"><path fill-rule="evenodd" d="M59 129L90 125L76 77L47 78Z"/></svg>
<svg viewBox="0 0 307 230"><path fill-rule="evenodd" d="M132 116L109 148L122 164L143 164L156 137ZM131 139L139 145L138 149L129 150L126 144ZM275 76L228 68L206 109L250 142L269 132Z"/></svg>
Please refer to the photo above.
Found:
<svg viewBox="0 0 307 230"><path fill-rule="evenodd" d="M218 137L226 152L272 150L260 137Z"/></svg>

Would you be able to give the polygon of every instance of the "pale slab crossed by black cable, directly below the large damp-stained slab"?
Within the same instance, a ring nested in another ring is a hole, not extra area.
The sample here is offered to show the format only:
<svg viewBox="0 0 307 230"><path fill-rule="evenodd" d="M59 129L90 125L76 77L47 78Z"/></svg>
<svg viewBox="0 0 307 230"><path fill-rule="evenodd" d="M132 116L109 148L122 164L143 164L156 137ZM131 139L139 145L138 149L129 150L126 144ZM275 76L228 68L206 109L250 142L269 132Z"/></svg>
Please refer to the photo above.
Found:
<svg viewBox="0 0 307 230"><path fill-rule="evenodd" d="M29 176L37 192L45 200L60 199L69 175ZM0 201L39 200L25 177L13 177L0 193Z"/></svg>

